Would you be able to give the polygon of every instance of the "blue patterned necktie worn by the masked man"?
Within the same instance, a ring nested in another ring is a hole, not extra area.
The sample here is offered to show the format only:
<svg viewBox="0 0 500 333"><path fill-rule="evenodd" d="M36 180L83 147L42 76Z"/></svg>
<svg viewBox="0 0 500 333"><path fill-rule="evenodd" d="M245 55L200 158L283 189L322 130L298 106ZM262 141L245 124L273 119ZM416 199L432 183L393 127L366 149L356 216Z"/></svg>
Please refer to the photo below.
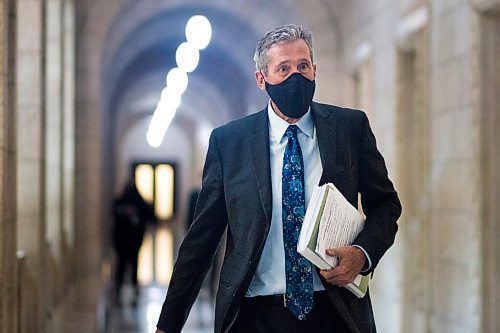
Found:
<svg viewBox="0 0 500 333"><path fill-rule="evenodd" d="M298 127L288 126L288 143L283 157L283 242L285 245L286 305L299 320L306 318L313 307L311 263L297 252L297 240L304 220L304 161Z"/></svg>

